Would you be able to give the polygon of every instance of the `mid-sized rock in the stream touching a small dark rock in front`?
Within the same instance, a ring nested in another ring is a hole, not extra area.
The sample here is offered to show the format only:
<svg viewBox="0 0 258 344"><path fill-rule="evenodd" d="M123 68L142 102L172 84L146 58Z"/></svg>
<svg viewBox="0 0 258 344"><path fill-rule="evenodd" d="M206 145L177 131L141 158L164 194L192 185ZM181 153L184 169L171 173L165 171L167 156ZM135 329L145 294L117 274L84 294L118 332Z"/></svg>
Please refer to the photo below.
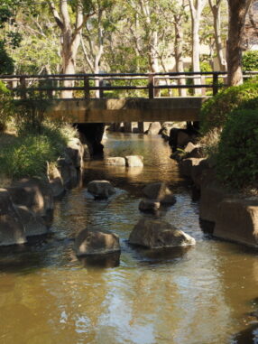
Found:
<svg viewBox="0 0 258 344"><path fill-rule="evenodd" d="M175 196L164 182L153 182L146 185L143 194L148 199L159 201L161 204L174 204L176 202Z"/></svg>

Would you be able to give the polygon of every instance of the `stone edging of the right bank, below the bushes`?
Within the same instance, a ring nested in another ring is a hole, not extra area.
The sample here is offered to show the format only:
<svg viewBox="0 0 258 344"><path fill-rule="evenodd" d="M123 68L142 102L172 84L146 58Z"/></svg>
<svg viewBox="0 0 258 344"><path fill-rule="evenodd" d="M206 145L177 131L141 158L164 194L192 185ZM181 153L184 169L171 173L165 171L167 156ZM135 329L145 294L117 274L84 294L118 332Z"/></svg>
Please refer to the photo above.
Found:
<svg viewBox="0 0 258 344"><path fill-rule="evenodd" d="M179 129L180 131L180 129ZM178 137L178 135L177 135ZM175 143L175 140L173 141ZM258 191L255 187L235 190L217 178L217 163L205 147L190 136L171 157L188 178L199 198L199 218L204 231L214 237L258 247Z"/></svg>

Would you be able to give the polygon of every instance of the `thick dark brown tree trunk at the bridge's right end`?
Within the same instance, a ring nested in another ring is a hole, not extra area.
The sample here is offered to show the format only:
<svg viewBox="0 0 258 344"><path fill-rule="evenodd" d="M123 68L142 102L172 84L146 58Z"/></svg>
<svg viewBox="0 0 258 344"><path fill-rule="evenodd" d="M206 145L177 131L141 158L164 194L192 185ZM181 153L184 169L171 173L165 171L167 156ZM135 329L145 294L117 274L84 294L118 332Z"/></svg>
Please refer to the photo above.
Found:
<svg viewBox="0 0 258 344"><path fill-rule="evenodd" d="M243 83L242 72L242 38L244 35L244 22L252 0L228 1L228 40L227 40L227 70L228 86Z"/></svg>

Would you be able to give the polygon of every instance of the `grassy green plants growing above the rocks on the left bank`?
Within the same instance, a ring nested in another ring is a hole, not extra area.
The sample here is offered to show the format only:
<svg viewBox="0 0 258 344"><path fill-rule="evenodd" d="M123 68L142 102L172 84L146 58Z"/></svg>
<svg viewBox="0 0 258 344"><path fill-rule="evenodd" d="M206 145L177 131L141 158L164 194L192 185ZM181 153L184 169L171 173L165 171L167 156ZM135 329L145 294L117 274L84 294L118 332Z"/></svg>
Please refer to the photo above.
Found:
<svg viewBox="0 0 258 344"><path fill-rule="evenodd" d="M45 176L47 162L55 163L75 129L44 123L41 134L23 131L13 144L2 147L1 172L12 179Z"/></svg>

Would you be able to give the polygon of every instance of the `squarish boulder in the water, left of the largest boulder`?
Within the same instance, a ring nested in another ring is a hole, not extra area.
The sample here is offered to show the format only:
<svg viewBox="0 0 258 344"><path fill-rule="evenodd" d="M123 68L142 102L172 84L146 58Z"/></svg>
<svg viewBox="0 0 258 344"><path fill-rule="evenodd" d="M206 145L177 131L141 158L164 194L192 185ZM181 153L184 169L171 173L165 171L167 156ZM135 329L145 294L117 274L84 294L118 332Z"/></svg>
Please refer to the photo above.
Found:
<svg viewBox="0 0 258 344"><path fill-rule="evenodd" d="M106 255L121 250L119 237L104 230L84 229L75 239L77 256Z"/></svg>

